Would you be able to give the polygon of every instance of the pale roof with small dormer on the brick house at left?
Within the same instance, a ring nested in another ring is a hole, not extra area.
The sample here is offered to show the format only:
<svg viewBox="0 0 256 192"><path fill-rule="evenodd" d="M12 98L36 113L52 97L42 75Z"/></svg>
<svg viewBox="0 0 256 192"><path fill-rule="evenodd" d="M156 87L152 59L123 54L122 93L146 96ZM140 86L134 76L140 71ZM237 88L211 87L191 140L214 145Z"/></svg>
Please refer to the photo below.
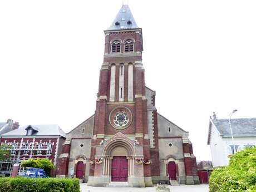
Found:
<svg viewBox="0 0 256 192"><path fill-rule="evenodd" d="M35 134L31 136L62 136L66 137L65 132L58 125L26 125L9 131L1 136L26 136L28 127L32 127L33 130L37 130Z"/></svg>

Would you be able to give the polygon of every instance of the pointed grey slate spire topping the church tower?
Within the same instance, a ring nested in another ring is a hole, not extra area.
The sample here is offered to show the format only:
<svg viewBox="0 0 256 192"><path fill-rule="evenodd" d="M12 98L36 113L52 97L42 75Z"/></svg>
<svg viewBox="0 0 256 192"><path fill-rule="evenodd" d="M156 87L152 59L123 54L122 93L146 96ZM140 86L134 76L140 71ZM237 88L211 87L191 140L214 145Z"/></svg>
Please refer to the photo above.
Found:
<svg viewBox="0 0 256 192"><path fill-rule="evenodd" d="M107 30L133 29L139 28L132 16L131 10L127 4L123 4L119 13L111 26Z"/></svg>

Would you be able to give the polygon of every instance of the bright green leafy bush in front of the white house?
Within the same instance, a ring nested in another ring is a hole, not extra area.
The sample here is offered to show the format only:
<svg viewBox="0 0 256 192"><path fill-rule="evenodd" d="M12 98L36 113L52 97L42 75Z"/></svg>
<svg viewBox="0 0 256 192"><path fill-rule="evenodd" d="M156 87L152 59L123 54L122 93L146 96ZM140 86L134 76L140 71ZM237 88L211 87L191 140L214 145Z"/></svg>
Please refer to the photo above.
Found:
<svg viewBox="0 0 256 192"><path fill-rule="evenodd" d="M256 147L234 154L225 168L215 169L209 180L210 192L255 192Z"/></svg>

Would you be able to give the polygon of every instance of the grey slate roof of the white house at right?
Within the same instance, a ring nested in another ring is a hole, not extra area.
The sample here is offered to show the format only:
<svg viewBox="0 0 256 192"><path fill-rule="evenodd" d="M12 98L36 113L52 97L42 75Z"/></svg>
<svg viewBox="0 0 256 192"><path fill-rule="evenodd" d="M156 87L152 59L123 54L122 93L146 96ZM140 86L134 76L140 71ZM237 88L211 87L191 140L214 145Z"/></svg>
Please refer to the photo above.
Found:
<svg viewBox="0 0 256 192"><path fill-rule="evenodd" d="M220 136L231 137L228 119L217 119L212 122ZM231 125L234 137L256 136L256 118L231 119Z"/></svg>

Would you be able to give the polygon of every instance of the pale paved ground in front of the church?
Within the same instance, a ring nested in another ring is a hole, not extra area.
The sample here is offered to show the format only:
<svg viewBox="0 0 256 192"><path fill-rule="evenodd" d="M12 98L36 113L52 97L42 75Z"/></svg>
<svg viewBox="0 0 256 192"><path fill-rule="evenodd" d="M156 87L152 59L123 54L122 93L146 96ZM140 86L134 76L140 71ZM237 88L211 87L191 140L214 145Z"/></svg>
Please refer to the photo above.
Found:
<svg viewBox="0 0 256 192"><path fill-rule="evenodd" d="M80 184L82 192L155 192L155 186L152 188L129 188L128 186L111 184L106 188L87 186L87 184ZM171 192L208 192L208 185L180 185L170 186Z"/></svg>

